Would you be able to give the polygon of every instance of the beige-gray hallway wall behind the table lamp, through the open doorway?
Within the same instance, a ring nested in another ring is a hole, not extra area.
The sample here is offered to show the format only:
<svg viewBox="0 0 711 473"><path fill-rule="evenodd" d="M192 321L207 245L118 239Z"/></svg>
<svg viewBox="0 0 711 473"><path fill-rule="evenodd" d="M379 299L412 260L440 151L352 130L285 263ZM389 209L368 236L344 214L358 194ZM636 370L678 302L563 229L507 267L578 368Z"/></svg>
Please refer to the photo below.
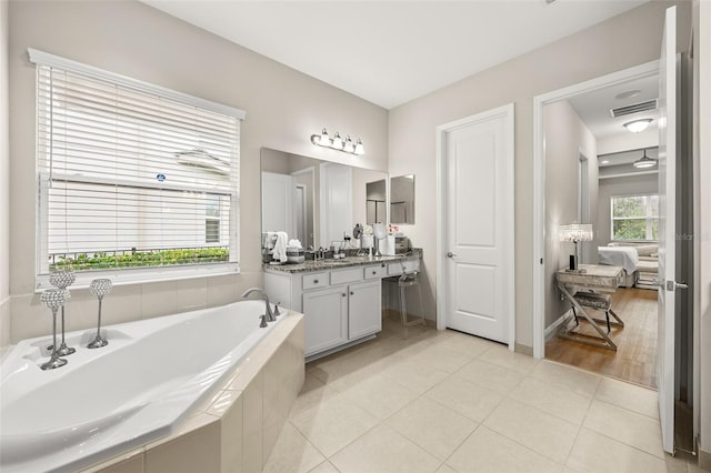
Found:
<svg viewBox="0 0 711 473"><path fill-rule="evenodd" d="M598 152L597 142L590 130L580 120L567 101L551 103L543 108L545 125L545 326L558 320L570 309L560 300L555 283L555 272L569 264L569 255L574 245L558 240L558 228L578 221L578 162L582 152L588 158L588 189L590 193L590 215L598 210ZM581 222L592 223L594 221ZM594 243L594 242L590 242ZM581 245L582 243L579 243ZM585 244L584 250L589 250ZM581 246L580 253L583 253ZM589 253L585 251L584 253ZM581 258L590 262L590 255Z"/></svg>

